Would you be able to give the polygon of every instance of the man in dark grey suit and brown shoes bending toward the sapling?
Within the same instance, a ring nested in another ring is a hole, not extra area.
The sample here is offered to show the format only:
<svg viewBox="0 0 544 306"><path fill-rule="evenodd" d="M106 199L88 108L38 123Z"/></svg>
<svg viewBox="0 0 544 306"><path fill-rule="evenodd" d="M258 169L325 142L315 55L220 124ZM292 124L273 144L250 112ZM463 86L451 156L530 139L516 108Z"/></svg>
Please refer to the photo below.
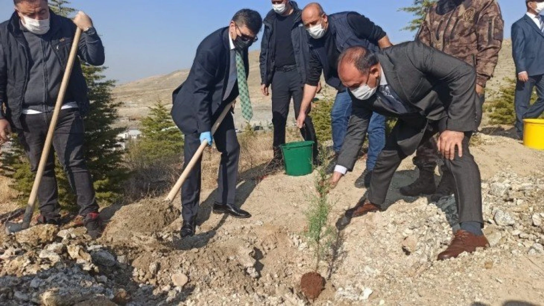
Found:
<svg viewBox="0 0 544 306"><path fill-rule="evenodd" d="M353 170L373 111L398 118L376 162L368 199L346 212L347 221L381 211L400 162L438 133L438 148L456 182L461 225L438 259L486 247L480 170L468 149L481 120L474 68L421 42L407 42L375 54L363 47L350 48L339 59L338 74L355 100L337 167ZM448 104L442 103L442 94L450 95ZM335 171L332 185L342 176Z"/></svg>

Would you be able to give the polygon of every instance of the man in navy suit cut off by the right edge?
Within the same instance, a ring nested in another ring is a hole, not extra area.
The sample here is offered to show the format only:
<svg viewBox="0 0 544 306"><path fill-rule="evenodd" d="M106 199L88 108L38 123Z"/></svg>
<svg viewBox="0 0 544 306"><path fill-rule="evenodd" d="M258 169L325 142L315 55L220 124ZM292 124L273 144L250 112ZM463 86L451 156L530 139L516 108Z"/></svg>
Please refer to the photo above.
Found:
<svg viewBox="0 0 544 306"><path fill-rule="evenodd" d="M527 1L527 14L512 24L512 55L517 84L514 105L516 130L523 138L523 119L539 118L544 112L544 1ZM538 99L530 105L536 86Z"/></svg>

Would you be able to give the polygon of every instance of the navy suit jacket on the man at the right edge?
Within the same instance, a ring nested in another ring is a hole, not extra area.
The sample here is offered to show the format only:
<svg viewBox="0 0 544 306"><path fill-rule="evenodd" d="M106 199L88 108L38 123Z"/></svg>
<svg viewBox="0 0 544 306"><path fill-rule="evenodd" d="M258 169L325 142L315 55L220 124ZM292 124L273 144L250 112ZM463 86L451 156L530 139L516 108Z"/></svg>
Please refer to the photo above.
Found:
<svg viewBox="0 0 544 306"><path fill-rule="evenodd" d="M512 24L512 55L516 73L544 74L544 34L527 14Z"/></svg>

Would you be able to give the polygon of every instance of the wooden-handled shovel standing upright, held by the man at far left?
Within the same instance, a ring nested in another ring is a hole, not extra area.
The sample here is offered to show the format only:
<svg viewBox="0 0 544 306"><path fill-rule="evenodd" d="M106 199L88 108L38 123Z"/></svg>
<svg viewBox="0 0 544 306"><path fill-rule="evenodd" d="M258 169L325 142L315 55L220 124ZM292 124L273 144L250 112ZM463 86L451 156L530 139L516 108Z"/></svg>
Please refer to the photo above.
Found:
<svg viewBox="0 0 544 306"><path fill-rule="evenodd" d="M53 133L55 127L57 127L57 121L59 119L60 109L63 106L64 95L66 94L66 88L70 81L70 75L72 74L73 62L76 60L77 47L79 44L79 37L81 37L81 29L76 29L76 35L73 39L72 49L70 50L70 57L68 58L68 63L66 64L66 71L64 71L63 82L60 85L59 96L57 97L57 103L55 104L55 109L53 111L53 117L51 118L51 123L49 124L49 130L47 131L47 137L45 139L44 150L41 153L40 164L38 165L38 172L34 179L34 184L32 186L32 192L30 192L30 197L28 199L27 209L24 211L23 222L22 223L5 223L5 231L8 234L13 234L22 230L26 230L30 226L30 220L34 214L34 209L36 208L36 196L38 196L38 188L40 187L41 178L44 175L45 164L47 162L47 157L51 150L51 143L53 142Z"/></svg>

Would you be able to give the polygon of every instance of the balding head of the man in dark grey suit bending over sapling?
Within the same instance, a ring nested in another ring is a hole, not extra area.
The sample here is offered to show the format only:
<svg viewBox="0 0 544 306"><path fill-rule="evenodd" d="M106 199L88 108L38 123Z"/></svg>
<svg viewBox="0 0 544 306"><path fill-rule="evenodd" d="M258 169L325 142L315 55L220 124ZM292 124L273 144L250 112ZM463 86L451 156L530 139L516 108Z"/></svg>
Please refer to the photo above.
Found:
<svg viewBox="0 0 544 306"><path fill-rule="evenodd" d="M357 88L368 84L374 88L378 86L380 75L378 57L367 48L348 48L338 58L338 76L345 87Z"/></svg>

